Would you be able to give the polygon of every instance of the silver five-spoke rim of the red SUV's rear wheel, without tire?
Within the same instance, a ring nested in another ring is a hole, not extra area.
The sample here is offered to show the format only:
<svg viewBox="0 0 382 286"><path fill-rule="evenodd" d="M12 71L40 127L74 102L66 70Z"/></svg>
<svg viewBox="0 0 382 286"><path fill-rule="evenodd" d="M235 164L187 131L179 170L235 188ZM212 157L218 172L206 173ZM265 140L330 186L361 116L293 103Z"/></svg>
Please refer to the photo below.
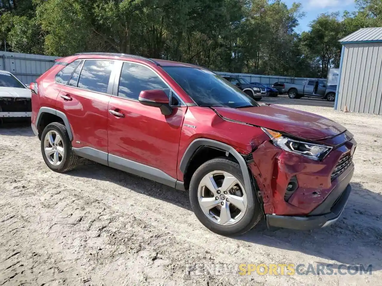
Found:
<svg viewBox="0 0 382 286"><path fill-rule="evenodd" d="M56 131L50 130L44 138L44 152L50 164L58 166L65 155L63 140Z"/></svg>

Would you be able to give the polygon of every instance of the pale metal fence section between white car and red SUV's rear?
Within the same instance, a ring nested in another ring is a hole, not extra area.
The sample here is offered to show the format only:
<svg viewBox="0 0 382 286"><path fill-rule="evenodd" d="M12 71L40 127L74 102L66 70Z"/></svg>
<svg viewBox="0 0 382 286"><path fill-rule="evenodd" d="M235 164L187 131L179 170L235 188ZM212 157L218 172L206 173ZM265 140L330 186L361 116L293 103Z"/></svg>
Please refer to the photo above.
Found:
<svg viewBox="0 0 382 286"><path fill-rule="evenodd" d="M34 82L58 57L1 51L0 70L14 74L23 84Z"/></svg>

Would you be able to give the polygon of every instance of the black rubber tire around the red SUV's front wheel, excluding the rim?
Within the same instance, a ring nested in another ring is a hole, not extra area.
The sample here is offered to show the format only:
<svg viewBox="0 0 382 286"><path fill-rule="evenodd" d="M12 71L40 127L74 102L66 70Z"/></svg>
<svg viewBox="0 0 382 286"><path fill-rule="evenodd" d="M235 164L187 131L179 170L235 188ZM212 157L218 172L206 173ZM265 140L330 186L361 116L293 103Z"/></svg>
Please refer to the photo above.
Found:
<svg viewBox="0 0 382 286"><path fill-rule="evenodd" d="M228 159L217 158L202 164L193 174L189 185L189 198L191 207L199 221L210 231L219 235L241 235L253 228L262 218L262 210L254 188L246 190L247 210L244 216L233 225L219 225L210 220L202 211L198 200L198 188L202 178L213 171L224 171L234 175L244 186L243 174L240 165Z"/></svg>

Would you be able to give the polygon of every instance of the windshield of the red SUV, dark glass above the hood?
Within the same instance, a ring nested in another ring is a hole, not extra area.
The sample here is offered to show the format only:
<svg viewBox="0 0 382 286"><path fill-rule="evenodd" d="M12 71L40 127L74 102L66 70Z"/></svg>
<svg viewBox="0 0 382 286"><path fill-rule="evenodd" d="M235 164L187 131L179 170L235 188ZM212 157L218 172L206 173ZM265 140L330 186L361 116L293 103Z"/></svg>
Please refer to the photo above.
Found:
<svg viewBox="0 0 382 286"><path fill-rule="evenodd" d="M179 66L164 66L163 69L199 106L259 106L248 95L213 72Z"/></svg>

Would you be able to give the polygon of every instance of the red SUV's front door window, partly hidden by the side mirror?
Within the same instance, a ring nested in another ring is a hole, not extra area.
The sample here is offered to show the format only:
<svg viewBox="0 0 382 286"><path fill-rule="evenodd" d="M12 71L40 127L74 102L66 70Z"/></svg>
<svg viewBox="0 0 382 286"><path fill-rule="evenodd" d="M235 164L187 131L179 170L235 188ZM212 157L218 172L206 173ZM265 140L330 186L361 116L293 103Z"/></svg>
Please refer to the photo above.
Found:
<svg viewBox="0 0 382 286"><path fill-rule="evenodd" d="M155 72L145 66L123 63L118 96L138 100L142 90L161 89L170 98L170 88Z"/></svg>

